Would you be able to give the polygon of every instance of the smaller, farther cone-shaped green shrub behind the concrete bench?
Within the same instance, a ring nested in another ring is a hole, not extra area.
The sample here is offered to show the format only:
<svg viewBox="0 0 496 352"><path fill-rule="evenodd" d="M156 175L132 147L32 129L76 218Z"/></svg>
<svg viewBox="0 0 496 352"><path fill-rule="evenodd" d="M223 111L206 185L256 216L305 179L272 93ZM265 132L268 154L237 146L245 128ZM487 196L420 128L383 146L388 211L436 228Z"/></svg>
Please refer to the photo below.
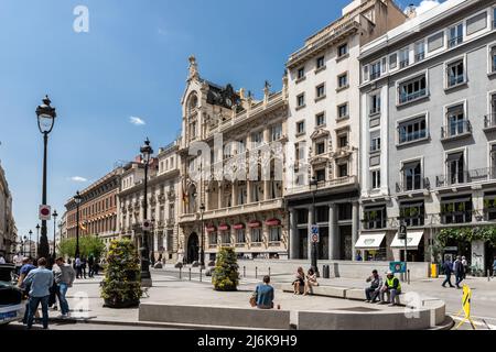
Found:
<svg viewBox="0 0 496 352"><path fill-rule="evenodd" d="M215 290L236 290L239 284L236 252L231 248L222 248L212 274Z"/></svg>

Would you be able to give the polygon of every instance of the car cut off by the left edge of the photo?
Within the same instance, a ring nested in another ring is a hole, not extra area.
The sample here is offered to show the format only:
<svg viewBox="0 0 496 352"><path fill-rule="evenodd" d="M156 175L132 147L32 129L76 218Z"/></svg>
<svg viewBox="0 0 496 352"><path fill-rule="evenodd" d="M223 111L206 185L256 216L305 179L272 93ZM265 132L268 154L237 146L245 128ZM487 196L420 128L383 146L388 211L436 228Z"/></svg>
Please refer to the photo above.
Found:
<svg viewBox="0 0 496 352"><path fill-rule="evenodd" d="M0 264L0 326L22 320L25 304L14 279L15 266Z"/></svg>

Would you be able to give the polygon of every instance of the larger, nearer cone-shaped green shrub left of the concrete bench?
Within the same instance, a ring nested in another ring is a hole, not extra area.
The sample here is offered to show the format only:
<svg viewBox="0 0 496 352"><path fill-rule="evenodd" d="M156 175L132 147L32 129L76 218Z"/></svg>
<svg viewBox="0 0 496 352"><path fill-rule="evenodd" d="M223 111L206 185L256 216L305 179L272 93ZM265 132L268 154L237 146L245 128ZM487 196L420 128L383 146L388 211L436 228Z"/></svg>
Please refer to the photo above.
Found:
<svg viewBox="0 0 496 352"><path fill-rule="evenodd" d="M136 307L140 302L141 267L138 252L129 240L115 240L107 253L101 297L110 308Z"/></svg>

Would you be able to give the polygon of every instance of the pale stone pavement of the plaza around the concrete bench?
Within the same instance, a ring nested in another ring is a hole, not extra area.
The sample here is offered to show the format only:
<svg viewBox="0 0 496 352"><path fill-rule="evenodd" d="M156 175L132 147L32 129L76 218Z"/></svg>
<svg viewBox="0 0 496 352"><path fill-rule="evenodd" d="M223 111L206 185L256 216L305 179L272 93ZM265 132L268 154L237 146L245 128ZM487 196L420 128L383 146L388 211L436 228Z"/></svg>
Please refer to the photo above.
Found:
<svg viewBox="0 0 496 352"><path fill-rule="evenodd" d="M196 272L196 273L195 273ZM211 277L202 277L197 268L192 270L192 280L188 279L188 271L182 273L179 278L179 271L166 267L165 270L153 270L153 287L149 288L148 296L142 301L166 302L177 305L212 305L248 307L250 293L255 289L260 277L241 277L239 292L217 293L212 289ZM138 308L110 309L103 307L103 299L99 295L99 283L103 276L90 279L77 279L74 287L68 292L72 316L78 320L87 322L100 322L107 324L141 324L138 321ZM282 283L292 282L292 275L272 275L272 284L278 287ZM366 287L365 280L332 278L320 279L322 285ZM462 292L453 288L442 288L442 278L424 279L413 282L410 285L403 283L405 292L418 292L423 296L441 298L446 302L446 314L454 315L461 309ZM496 280L487 282L487 278L467 278L465 280L473 289L473 317L477 329L496 329ZM281 305L281 309L298 310L327 310L327 309L403 309L401 307L387 307L369 305L356 300L337 299L317 296L294 296L290 293L282 293L277 289L276 305ZM51 311L51 317L56 317L57 311ZM153 323L157 324L157 323ZM151 324L151 326L153 326ZM463 328L470 328L465 324ZM84 326L83 326L84 329Z"/></svg>

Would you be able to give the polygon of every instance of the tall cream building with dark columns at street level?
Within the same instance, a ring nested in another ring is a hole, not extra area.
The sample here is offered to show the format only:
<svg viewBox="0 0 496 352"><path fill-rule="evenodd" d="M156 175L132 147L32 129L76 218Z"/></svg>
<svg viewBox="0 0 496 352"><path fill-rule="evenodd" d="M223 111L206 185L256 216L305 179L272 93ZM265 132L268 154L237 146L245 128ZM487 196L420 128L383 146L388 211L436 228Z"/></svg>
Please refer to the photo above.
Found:
<svg viewBox="0 0 496 352"><path fill-rule="evenodd" d="M290 257L352 260L359 229L360 47L406 15L393 1L356 0L305 41L287 63L289 153L285 198Z"/></svg>

